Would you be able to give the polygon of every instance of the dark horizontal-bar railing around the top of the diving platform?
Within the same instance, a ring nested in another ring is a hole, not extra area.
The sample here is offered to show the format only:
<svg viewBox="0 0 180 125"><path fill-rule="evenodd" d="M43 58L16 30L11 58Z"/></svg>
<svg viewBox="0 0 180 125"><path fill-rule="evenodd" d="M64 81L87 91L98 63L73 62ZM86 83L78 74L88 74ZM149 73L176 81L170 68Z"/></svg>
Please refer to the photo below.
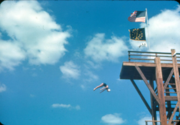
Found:
<svg viewBox="0 0 180 125"><path fill-rule="evenodd" d="M131 60L154 61L154 59L156 57L160 57L161 61L167 61L167 62L172 61L171 53L128 51L128 60L129 60L129 62L131 62ZM180 53L176 53L177 62L180 62L180 60L178 60L178 58L180 58Z"/></svg>

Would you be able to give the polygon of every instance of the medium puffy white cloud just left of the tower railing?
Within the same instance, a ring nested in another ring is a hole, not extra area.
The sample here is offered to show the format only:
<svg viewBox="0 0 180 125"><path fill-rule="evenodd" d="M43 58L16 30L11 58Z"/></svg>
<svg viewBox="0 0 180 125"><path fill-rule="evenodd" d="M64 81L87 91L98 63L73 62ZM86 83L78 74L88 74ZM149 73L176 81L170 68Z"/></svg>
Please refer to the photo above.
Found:
<svg viewBox="0 0 180 125"><path fill-rule="evenodd" d="M89 42L84 53L86 57L91 57L94 61L117 61L124 51L128 48L123 39L112 36L111 39L105 39L105 34L96 34Z"/></svg>

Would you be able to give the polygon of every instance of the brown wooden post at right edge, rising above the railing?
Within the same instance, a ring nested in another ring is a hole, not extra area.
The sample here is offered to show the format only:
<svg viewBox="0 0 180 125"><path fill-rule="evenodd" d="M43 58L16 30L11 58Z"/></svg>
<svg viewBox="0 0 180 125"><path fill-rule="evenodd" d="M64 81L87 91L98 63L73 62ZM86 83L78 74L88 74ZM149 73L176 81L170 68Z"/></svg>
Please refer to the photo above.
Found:
<svg viewBox="0 0 180 125"><path fill-rule="evenodd" d="M177 60L176 60L176 55L175 54L175 50L172 49L171 50L171 55L172 55L172 60L173 60L173 70L174 70L174 77L175 77L175 84L176 84L176 92L177 92L177 104L178 107L180 107L180 85L179 85L179 69L177 66ZM179 112L180 112L180 108L179 108Z"/></svg>

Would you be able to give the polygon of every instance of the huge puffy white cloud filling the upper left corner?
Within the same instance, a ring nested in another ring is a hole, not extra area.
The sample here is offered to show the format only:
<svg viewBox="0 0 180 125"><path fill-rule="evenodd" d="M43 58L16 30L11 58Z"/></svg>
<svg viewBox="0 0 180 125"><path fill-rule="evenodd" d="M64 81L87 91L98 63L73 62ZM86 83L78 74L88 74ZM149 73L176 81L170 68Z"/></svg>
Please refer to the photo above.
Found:
<svg viewBox="0 0 180 125"><path fill-rule="evenodd" d="M54 64L65 54L70 33L62 31L37 1L5 1L0 13L1 31L11 39L0 39L1 68L13 69L25 59L35 65Z"/></svg>

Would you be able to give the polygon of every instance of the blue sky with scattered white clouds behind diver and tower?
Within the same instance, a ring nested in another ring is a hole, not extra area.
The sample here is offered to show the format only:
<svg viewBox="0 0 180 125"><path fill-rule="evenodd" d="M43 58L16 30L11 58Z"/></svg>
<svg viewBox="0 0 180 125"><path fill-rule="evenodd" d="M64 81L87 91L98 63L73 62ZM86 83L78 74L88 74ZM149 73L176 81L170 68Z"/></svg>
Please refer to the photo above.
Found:
<svg viewBox="0 0 180 125"><path fill-rule="evenodd" d="M147 8L147 47L129 39ZM130 80L128 50L170 52L180 43L174 1L5 1L0 5L0 122L5 125L143 125L151 115ZM150 41L150 44L149 44ZM150 46L149 46L150 45ZM105 82L111 92L94 87ZM136 81L150 104L150 92Z"/></svg>

